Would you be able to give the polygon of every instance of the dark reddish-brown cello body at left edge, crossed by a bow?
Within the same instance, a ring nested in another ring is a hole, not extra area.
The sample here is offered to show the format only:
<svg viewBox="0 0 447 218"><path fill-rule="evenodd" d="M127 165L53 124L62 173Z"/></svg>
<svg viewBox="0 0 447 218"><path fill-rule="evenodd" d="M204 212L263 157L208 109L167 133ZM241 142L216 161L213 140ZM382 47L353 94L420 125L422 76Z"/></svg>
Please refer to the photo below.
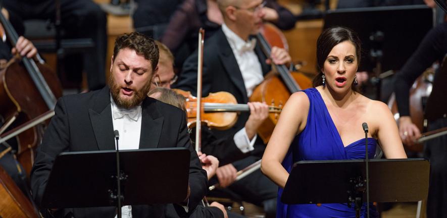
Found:
<svg viewBox="0 0 447 218"><path fill-rule="evenodd" d="M36 63L43 78L56 97L62 96L62 87L57 75L48 67ZM49 109L42 96L20 62L13 59L7 68L0 71L0 116L5 122L16 119L8 129L23 124ZM52 108L53 109L53 108ZM16 137L17 158L28 176L34 161L34 149L41 140L44 125L37 125Z"/></svg>

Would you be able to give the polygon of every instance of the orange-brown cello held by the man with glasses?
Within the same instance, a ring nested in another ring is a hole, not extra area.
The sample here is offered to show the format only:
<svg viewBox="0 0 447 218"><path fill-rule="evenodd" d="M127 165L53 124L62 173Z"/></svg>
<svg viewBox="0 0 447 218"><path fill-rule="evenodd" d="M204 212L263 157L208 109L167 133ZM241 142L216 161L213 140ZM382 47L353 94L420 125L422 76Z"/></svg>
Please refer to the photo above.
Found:
<svg viewBox="0 0 447 218"><path fill-rule="evenodd" d="M273 41L267 41L264 35L269 36L269 39ZM287 43L284 43L285 36L272 24L264 24L262 31L256 37L267 57L270 57L270 44L284 49L288 48ZM299 72L291 73L285 65L272 63L272 69L274 71L268 73L264 81L253 90L250 101L266 102L271 106L282 108L292 93L312 87L312 82L307 76ZM279 116L270 114L258 129L258 135L265 144L269 141L278 119Z"/></svg>

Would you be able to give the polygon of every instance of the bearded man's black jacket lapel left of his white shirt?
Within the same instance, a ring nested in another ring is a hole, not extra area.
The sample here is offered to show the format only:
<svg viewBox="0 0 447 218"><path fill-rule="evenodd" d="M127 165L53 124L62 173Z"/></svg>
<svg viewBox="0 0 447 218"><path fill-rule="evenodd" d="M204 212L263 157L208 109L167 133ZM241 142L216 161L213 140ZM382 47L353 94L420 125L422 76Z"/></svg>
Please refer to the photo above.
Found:
<svg viewBox="0 0 447 218"><path fill-rule="evenodd" d="M95 96L94 102L93 107L89 108L88 114L98 149L115 150L109 88L103 88Z"/></svg>

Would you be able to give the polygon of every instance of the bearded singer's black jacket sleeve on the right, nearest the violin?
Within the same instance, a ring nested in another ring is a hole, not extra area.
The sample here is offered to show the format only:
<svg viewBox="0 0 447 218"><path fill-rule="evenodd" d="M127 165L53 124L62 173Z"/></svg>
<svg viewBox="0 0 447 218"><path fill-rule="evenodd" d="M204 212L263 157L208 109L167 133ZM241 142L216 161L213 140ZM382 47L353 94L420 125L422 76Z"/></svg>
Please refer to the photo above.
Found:
<svg viewBox="0 0 447 218"><path fill-rule="evenodd" d="M188 209L192 211L197 204L202 201L203 197L207 193L207 173L202 169L201 163L198 160L197 153L191 146L191 140L187 132L186 115L181 113L181 124L178 132L178 147L185 147L191 151L191 158L189 162L189 187L190 195L188 202Z"/></svg>

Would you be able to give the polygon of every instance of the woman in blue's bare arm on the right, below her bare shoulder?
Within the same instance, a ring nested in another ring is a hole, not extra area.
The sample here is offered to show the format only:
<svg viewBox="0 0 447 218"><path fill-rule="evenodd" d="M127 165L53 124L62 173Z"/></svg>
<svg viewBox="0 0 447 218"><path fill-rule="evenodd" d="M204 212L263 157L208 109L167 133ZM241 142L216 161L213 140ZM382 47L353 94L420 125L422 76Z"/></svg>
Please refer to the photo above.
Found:
<svg viewBox="0 0 447 218"><path fill-rule="evenodd" d="M382 146L385 157L390 158L407 158L401 137L399 136L398 125L391 114L388 106L380 101L374 101L373 108L369 113L375 116L369 120L373 120L376 125L376 134ZM377 113L378 112L378 113ZM378 117L377 117L378 116Z"/></svg>

